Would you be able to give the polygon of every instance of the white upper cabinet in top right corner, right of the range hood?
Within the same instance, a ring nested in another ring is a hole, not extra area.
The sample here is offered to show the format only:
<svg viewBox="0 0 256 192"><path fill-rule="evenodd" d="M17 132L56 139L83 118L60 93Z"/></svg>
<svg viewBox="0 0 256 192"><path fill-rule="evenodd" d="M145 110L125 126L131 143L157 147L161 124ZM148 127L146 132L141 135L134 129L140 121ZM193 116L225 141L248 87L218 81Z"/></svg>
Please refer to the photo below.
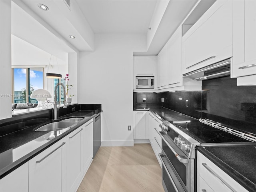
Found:
<svg viewBox="0 0 256 192"><path fill-rule="evenodd" d="M256 1L233 1L232 77L256 74ZM255 82L255 80L254 80Z"/></svg>

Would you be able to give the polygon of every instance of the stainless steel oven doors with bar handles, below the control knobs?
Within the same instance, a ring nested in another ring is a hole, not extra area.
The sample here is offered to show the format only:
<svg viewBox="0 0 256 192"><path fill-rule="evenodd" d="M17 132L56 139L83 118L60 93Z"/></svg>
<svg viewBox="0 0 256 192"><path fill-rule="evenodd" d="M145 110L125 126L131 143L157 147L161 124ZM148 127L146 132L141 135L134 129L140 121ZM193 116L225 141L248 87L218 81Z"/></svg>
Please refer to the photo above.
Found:
<svg viewBox="0 0 256 192"><path fill-rule="evenodd" d="M159 134L162 138L162 153L159 156L162 160L165 190L167 192L194 192L195 159L189 158L164 131L159 132ZM178 138L179 134L174 132L174 137ZM168 189L170 183L172 183L174 190Z"/></svg>

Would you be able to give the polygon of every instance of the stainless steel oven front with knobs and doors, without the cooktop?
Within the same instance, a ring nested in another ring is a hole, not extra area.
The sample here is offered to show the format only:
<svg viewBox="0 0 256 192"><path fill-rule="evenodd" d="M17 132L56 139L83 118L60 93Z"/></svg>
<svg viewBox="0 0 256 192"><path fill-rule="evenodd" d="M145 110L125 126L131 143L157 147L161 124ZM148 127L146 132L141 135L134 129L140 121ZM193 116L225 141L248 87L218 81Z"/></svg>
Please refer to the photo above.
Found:
<svg viewBox="0 0 256 192"><path fill-rule="evenodd" d="M162 153L158 154L162 161L162 184L166 192L194 192L195 150L190 149L200 143L167 124L164 122L158 132L162 138Z"/></svg>

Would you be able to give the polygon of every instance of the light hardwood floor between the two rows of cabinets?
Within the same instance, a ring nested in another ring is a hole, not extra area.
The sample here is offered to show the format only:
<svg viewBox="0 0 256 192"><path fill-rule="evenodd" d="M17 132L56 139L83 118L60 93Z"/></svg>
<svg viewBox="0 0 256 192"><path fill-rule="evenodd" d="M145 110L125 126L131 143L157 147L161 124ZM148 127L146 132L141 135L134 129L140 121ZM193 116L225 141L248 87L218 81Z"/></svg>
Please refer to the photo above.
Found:
<svg viewBox="0 0 256 192"><path fill-rule="evenodd" d="M100 147L77 192L164 192L150 144Z"/></svg>

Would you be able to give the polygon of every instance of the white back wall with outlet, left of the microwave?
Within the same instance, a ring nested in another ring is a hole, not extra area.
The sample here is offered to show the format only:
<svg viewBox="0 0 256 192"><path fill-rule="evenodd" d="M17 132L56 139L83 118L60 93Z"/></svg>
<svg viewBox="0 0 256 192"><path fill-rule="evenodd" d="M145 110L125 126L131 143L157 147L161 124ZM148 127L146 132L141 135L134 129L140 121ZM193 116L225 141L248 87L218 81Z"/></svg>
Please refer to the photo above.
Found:
<svg viewBox="0 0 256 192"><path fill-rule="evenodd" d="M80 52L78 103L102 104L102 146L133 146L132 52L146 51L146 35L96 34L94 45Z"/></svg>

